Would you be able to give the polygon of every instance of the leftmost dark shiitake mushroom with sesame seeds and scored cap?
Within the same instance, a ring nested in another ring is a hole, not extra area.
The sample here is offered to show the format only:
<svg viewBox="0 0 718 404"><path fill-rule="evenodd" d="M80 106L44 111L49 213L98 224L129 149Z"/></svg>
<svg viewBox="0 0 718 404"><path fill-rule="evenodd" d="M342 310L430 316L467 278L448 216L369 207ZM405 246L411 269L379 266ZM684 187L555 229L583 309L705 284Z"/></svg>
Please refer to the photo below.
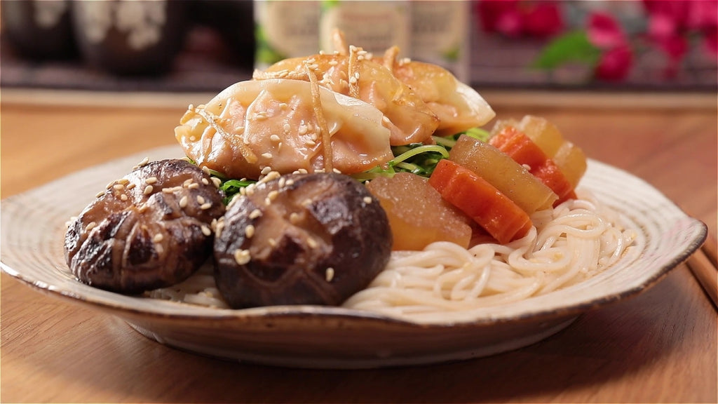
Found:
<svg viewBox="0 0 718 404"><path fill-rule="evenodd" d="M136 167L70 224L67 265L81 282L125 294L185 280L211 256L222 198L210 176L184 160Z"/></svg>

